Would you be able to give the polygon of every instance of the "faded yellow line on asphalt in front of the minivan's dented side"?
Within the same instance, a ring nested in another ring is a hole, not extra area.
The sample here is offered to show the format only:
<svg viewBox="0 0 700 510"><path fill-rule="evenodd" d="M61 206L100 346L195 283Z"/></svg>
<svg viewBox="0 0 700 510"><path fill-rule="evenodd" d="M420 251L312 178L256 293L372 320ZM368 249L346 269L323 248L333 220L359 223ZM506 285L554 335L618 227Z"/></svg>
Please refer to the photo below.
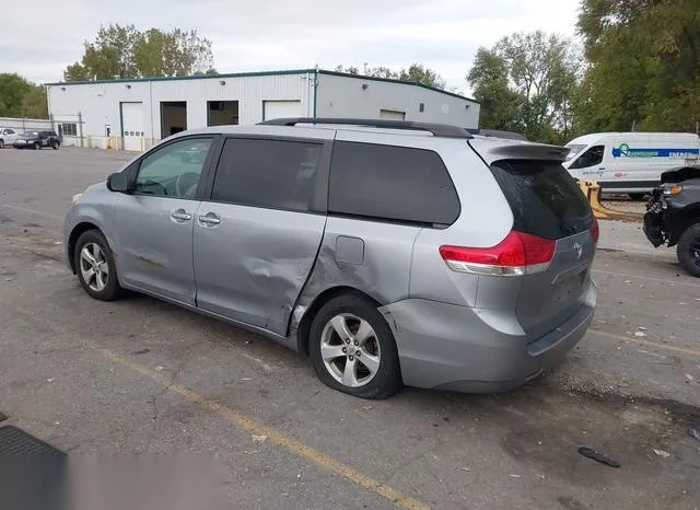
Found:
<svg viewBox="0 0 700 510"><path fill-rule="evenodd" d="M267 436L268 441L273 442L278 447L283 448L307 461L315 464L318 467L330 471L342 478L346 478L360 487L371 490L376 495L388 499L400 508L408 509L425 509L428 506L417 499L406 497L401 495L398 490L389 487L388 485L384 485L381 482L372 478L371 476L365 475L364 473L359 472L358 470L350 467L335 459L326 455L325 453L308 447L301 442L298 439L285 436L272 427L268 427L266 425L261 425L256 422L253 418L238 413L231 407L226 407L223 404L220 404L215 401L209 399L197 392L188 390L185 386L179 384L174 384L167 380L167 378L154 373L145 366L135 363L127 358L124 358L116 352L113 352L108 349L101 348L98 346L93 346L96 350L98 350L103 356L105 356L110 361L115 363L127 367L135 372L138 372L142 375L145 375L153 380L159 385L166 389L166 391L174 393L176 395L180 395L187 398L189 402L200 405L205 409L214 413L222 418L225 418L229 421L234 422L240 428L244 430L248 430L250 432L255 432L256 434Z"/></svg>

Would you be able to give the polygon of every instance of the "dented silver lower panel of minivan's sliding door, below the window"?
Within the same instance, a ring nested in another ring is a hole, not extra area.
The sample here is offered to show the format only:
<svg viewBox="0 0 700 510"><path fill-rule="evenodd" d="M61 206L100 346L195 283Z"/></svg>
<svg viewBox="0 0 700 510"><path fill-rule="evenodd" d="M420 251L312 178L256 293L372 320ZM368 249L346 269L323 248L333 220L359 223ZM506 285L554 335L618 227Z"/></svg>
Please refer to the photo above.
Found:
<svg viewBox="0 0 700 510"><path fill-rule="evenodd" d="M214 202L202 202L200 215L221 222L195 225L197 305L285 336L326 217Z"/></svg>

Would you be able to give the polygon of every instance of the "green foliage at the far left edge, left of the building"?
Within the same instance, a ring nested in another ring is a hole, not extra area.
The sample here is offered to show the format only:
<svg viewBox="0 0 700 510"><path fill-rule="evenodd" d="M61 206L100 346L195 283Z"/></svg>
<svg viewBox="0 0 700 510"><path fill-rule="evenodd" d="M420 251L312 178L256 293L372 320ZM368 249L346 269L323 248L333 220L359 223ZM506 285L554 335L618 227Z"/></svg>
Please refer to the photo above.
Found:
<svg viewBox="0 0 700 510"><path fill-rule="evenodd" d="M46 91L16 73L0 73L0 117L46 118Z"/></svg>

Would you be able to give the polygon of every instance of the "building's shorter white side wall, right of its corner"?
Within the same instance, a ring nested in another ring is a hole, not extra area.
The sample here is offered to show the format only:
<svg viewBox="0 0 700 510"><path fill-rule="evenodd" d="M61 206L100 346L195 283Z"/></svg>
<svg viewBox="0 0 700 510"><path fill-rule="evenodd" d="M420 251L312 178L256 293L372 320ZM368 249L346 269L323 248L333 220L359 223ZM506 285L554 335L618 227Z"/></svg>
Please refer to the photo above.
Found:
<svg viewBox="0 0 700 510"><path fill-rule="evenodd" d="M363 89L363 85L366 85ZM409 83L368 80L320 72L318 117L380 118L380 111L406 113L406 120L476 128L479 103ZM423 103L423 112L420 104Z"/></svg>

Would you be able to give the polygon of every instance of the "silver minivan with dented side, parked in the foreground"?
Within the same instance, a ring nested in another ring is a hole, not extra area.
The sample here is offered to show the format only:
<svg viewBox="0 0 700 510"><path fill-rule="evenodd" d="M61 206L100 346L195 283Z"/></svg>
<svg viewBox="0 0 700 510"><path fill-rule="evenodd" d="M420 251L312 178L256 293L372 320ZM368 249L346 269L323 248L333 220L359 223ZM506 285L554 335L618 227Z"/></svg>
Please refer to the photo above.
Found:
<svg viewBox="0 0 700 510"><path fill-rule="evenodd" d="M97 300L241 325L351 395L505 391L596 305L598 227L565 153L392 120L189 130L74 197L66 255Z"/></svg>

